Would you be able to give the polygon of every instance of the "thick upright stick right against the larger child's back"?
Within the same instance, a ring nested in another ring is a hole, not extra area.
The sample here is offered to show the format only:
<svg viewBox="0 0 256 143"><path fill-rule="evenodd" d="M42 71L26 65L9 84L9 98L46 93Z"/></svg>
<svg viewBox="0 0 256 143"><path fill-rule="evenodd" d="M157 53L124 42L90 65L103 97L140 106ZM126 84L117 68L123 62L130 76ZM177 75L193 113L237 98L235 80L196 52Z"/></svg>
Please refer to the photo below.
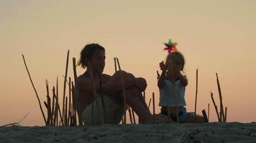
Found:
<svg viewBox="0 0 256 143"><path fill-rule="evenodd" d="M82 122L82 117L81 117L81 105L76 103L76 101L79 100L79 91L78 91L78 77L77 77L77 74L76 74L76 58L73 58L73 73L74 73L74 82L75 82L75 88L74 88L74 92L73 92L73 107L76 107L74 108L75 110L75 113L78 112L78 123L79 123L79 126L83 125L83 122ZM76 117L76 116L75 116Z"/></svg>

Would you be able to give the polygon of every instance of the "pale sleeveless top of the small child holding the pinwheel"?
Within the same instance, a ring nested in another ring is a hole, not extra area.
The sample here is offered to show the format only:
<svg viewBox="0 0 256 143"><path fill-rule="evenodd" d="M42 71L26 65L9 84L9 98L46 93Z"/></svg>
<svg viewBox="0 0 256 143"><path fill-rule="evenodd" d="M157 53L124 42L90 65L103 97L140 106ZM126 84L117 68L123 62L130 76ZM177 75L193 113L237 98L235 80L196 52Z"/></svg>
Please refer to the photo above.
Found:
<svg viewBox="0 0 256 143"><path fill-rule="evenodd" d="M180 84L180 80L175 82L175 91L178 94L178 107L186 106L185 87ZM160 89L160 107L175 107L175 94L173 83L165 79L165 86Z"/></svg>

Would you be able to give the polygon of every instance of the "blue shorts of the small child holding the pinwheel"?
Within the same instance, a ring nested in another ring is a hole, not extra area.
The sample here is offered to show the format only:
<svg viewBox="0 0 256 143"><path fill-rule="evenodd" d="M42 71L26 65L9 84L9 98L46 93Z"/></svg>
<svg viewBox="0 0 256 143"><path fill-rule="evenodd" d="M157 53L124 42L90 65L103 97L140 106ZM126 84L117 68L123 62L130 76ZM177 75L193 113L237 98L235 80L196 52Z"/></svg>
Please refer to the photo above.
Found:
<svg viewBox="0 0 256 143"><path fill-rule="evenodd" d="M161 110L161 114L168 116L168 112L165 112L163 110ZM187 112L186 108L183 108L180 110L180 112L178 112L178 119L180 123L185 123L186 119L188 118L188 114L195 115L194 112ZM174 122L177 122L176 113L170 113L170 119L172 119Z"/></svg>

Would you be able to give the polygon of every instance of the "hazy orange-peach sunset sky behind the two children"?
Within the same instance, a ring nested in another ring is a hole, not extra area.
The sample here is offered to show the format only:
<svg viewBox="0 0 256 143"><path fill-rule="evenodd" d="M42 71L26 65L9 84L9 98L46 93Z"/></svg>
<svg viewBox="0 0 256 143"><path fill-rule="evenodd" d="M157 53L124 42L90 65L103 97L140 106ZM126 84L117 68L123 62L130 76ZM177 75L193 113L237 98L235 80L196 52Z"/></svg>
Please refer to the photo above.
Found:
<svg viewBox="0 0 256 143"><path fill-rule="evenodd" d="M168 39L178 43L186 59L188 112L194 110L198 69L198 114L210 104L210 122L217 121L210 92L219 107L218 73L227 122L255 122L255 6L253 0L1 0L0 125L19 122L27 113L22 125L44 125L22 54L45 101L45 79L52 88L58 77L63 93L68 49L70 61L78 60L91 43L106 49L106 74L114 74L118 57L122 69L147 79L146 100L155 92L158 104L156 71ZM84 69L77 70L83 74ZM68 76L73 77L71 62Z"/></svg>

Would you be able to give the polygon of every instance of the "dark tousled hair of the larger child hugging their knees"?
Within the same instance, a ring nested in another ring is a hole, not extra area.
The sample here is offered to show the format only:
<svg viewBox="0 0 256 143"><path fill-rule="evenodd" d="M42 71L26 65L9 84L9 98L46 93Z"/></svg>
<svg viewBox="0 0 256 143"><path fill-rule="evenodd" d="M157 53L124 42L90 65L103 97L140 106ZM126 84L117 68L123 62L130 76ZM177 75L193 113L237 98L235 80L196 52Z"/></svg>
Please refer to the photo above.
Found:
<svg viewBox="0 0 256 143"><path fill-rule="evenodd" d="M105 51L104 47L99 44L87 44L84 46L84 48L81 51L80 59L78 61L78 65L81 65L83 68L86 68L86 59L91 60L91 56L93 56L93 52L99 50L99 51Z"/></svg>

